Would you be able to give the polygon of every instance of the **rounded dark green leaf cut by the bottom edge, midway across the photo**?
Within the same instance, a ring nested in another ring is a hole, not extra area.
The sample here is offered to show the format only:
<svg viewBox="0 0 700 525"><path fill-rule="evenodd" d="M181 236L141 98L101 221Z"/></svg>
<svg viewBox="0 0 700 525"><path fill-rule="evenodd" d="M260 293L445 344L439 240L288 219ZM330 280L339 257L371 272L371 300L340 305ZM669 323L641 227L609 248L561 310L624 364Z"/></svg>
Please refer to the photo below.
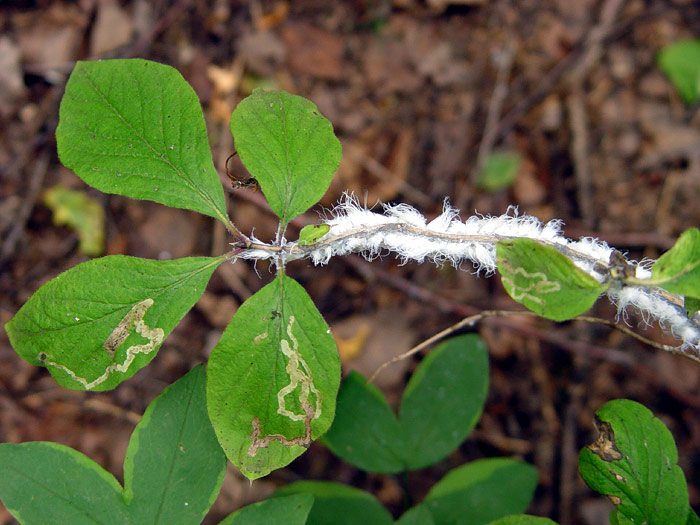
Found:
<svg viewBox="0 0 700 525"><path fill-rule="evenodd" d="M370 493L330 481L297 481L273 496L313 494L307 525L389 525L391 514Z"/></svg>

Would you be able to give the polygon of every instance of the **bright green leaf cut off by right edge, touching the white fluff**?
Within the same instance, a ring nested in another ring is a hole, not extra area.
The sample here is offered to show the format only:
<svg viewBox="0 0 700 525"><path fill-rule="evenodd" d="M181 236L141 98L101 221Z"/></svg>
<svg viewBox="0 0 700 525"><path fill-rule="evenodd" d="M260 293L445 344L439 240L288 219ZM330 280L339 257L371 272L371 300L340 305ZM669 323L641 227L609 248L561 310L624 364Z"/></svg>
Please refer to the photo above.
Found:
<svg viewBox="0 0 700 525"><path fill-rule="evenodd" d="M700 299L700 231L690 228L651 268L650 284Z"/></svg>

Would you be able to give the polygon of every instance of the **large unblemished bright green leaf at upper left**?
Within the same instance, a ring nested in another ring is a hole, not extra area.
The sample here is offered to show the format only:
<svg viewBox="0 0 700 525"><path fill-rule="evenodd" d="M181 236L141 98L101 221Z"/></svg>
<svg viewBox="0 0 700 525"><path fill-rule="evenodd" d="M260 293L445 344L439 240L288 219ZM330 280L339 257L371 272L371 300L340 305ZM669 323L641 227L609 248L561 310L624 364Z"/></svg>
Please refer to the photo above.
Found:
<svg viewBox="0 0 700 525"><path fill-rule="evenodd" d="M78 62L56 142L61 162L99 190L230 222L199 99L169 66Z"/></svg>

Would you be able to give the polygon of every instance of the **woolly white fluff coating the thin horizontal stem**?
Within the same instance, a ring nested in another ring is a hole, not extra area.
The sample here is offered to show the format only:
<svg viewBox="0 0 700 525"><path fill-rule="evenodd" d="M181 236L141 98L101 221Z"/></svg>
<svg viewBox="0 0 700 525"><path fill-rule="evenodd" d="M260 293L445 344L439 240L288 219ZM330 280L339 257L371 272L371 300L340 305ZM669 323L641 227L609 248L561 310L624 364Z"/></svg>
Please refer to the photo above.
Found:
<svg viewBox="0 0 700 525"><path fill-rule="evenodd" d="M560 220L542 223L536 217L518 215L517 208L510 206L503 215L474 215L462 222L459 210L445 201L442 213L428 222L407 204L384 204L382 207L383 213L374 212L346 194L323 221L330 227L328 233L308 249L295 251L294 248L299 247L288 243L283 245L281 253L258 247L239 257L259 260L279 256L284 262L309 257L319 265L338 255L361 253L372 260L393 252L402 263L427 259L437 264L449 262L459 268L463 262L471 261L477 273L493 273L497 268L496 242L527 238L565 251L576 266L599 282L607 278L607 272L601 269L609 266L613 249L598 239L567 239L562 234ZM254 241L257 246L264 246ZM651 277L652 263L630 261L639 279ZM683 308L664 296L638 286L612 287L606 293L623 319L626 319L627 309L634 307L641 312L645 323L655 319L679 337L684 347L700 348L700 327L688 319Z"/></svg>

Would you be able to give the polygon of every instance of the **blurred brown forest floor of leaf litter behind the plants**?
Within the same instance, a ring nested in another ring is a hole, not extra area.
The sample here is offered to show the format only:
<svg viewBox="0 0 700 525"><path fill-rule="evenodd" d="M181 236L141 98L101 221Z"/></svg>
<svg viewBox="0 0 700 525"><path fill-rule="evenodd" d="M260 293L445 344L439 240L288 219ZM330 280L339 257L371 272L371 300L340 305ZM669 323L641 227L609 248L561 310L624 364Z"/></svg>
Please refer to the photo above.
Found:
<svg viewBox="0 0 700 525"><path fill-rule="evenodd" d="M142 57L177 68L199 95L233 222L263 240L274 217L260 191L232 188L225 166L234 152L231 111L256 87L310 98L333 123L343 160L327 208L344 191L370 206L406 202L429 218L446 197L463 218L515 204L543 221L563 219L568 237L599 237L635 259L658 257L700 222L698 104L658 61L671 44L700 35L697 2L4 1L0 25L3 324L39 286L89 257L218 255L230 242L209 218L102 194L61 166L54 132L76 60ZM247 178L236 158L228 168ZM517 308L499 279L462 270L347 257L322 268L292 263L288 273L331 325L344 371L369 376L466 315ZM245 262L221 267L151 365L108 393L59 388L2 331L0 441L60 442L123 481L145 407L206 361L238 305L271 277L260 263L257 273ZM603 301L593 313L616 314ZM639 321L629 318L635 328ZM657 326L638 329L675 342ZM580 479L577 454L595 438L595 410L626 397L670 428L691 505L700 505L697 366L602 325L511 317L476 330L491 356L484 415L458 451L408 475L416 501L450 468L512 456L540 472L530 513L605 523L612 504ZM419 359L378 377L390 403ZM252 484L229 465L205 523L299 479L351 484L395 516L402 511L396 478L355 470L315 443ZM13 523L1 507L0 523Z"/></svg>

